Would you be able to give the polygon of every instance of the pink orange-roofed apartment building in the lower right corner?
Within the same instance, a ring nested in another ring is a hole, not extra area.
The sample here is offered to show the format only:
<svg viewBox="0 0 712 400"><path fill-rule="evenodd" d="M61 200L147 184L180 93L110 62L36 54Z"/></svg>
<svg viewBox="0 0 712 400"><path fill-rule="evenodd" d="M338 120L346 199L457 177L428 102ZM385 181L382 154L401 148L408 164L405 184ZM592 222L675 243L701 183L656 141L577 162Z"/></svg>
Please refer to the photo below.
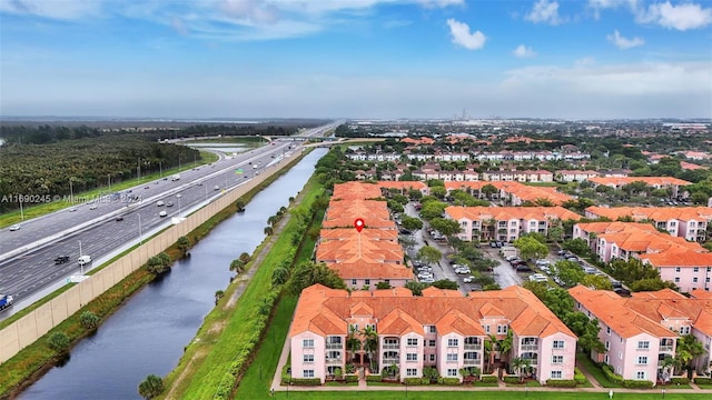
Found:
<svg viewBox="0 0 712 400"><path fill-rule="evenodd" d="M599 339L606 350L592 357L613 367L624 379L668 381L679 371L663 368L663 361L675 357L682 334L693 334L703 344L705 353L693 361L698 369L709 371L712 300L689 299L670 289L622 298L612 291L577 286L568 293L575 308L596 318L601 326Z"/></svg>

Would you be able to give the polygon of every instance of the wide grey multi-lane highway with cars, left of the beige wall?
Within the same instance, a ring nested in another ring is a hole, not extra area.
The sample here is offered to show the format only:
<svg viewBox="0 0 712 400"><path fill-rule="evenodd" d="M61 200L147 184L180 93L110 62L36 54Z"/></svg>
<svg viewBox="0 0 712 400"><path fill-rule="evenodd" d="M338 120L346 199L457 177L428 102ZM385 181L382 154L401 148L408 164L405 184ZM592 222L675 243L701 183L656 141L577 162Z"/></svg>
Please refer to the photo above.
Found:
<svg viewBox="0 0 712 400"><path fill-rule="evenodd" d="M334 127L332 123L315 128L305 134L324 134ZM17 312L18 302L22 299L34 297L69 276L80 273L77 263L80 246L81 254L89 254L93 259L89 268L99 266L105 261L102 258L112 251L137 242L140 236L147 238L147 232L167 227L172 218L220 196L222 190L247 182L288 152L301 151L300 144L288 138L277 139L271 144L224 158L211 166L182 171L178 181L171 181L168 177L142 183L118 196L77 204L76 211L65 209L26 221L18 231L6 228L0 232L0 253L3 254L3 261L0 261L0 292L14 297L13 311ZM237 169L244 172L237 173ZM132 196L140 200L132 201ZM158 201L164 201L165 206L157 206ZM167 206L169 202L172 207ZM96 204L96 209L91 209L91 204ZM167 216L159 217L161 211L166 211ZM117 220L118 216L122 220ZM22 251L13 254L18 249ZM53 260L59 256L69 256L69 262L55 264ZM0 319L9 314L11 312L2 312Z"/></svg>

